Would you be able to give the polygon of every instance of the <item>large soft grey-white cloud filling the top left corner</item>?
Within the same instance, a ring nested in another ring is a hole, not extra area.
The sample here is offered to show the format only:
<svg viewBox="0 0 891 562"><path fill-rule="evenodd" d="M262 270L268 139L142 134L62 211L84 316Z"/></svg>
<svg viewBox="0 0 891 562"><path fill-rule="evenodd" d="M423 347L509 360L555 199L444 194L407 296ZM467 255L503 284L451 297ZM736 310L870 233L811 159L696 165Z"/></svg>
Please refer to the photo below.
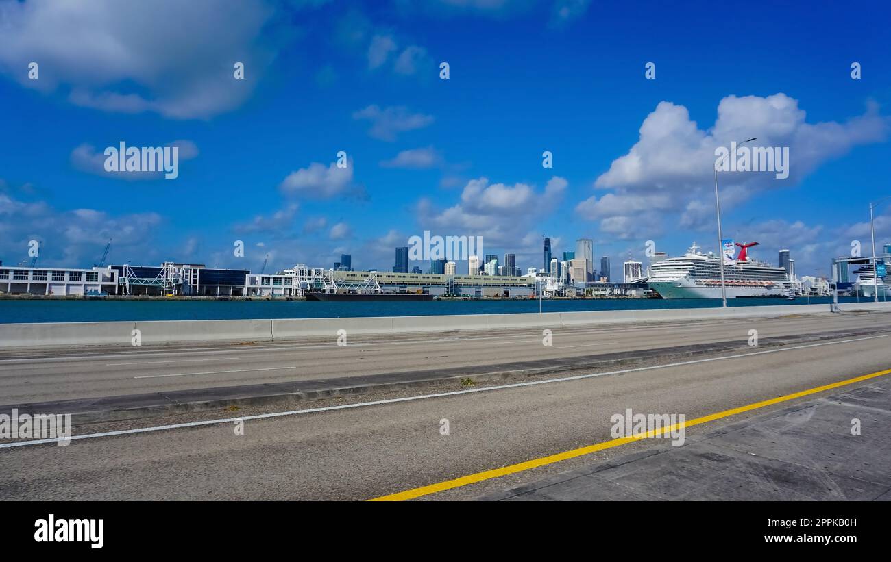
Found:
<svg viewBox="0 0 891 562"><path fill-rule="evenodd" d="M262 33L273 12L266 0L4 2L0 71L80 106L208 118L241 105L274 58ZM22 71L30 61L37 80Z"/></svg>

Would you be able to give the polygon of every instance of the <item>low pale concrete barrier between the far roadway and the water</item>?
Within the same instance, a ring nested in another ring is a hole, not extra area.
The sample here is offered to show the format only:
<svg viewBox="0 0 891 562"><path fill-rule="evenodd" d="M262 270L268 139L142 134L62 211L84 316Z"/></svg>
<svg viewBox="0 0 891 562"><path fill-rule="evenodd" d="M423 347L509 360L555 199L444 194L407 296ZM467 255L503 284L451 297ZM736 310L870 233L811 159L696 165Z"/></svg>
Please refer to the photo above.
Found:
<svg viewBox="0 0 891 562"><path fill-rule="evenodd" d="M888 310L891 302L847 302L842 311ZM544 314L475 314L417 317L282 318L258 320L171 320L0 324L0 349L41 346L129 344L133 330L142 343L178 341L274 341L307 337L373 333L424 333L507 328L554 328L580 325L634 324L732 317L781 317L830 312L829 304L791 304L707 309L638 309Z"/></svg>

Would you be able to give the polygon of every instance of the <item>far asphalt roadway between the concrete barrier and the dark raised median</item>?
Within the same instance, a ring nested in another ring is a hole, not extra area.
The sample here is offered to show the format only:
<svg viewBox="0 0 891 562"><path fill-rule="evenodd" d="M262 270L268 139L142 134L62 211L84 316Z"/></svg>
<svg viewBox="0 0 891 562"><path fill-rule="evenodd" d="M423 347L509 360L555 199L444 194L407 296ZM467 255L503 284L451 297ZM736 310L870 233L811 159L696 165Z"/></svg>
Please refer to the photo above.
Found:
<svg viewBox="0 0 891 562"><path fill-rule="evenodd" d="M761 340L779 335L888 329L891 313L735 318L651 325L552 330L352 336L254 345L48 349L0 353L0 404L126 396L283 381L307 381L374 373L468 367L470 373L499 370L525 360L582 357L662 349L716 341Z"/></svg>

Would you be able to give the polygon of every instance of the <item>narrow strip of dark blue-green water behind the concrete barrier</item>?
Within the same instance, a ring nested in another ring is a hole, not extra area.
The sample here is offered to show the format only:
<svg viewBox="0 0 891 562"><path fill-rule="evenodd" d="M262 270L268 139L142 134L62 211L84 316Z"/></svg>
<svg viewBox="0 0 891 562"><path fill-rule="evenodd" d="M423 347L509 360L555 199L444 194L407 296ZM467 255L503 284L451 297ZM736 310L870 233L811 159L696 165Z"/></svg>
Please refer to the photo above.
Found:
<svg viewBox="0 0 891 562"><path fill-rule="evenodd" d="M830 297L811 298L812 304ZM840 298L839 302L855 302ZM807 304L806 298L731 299L729 306ZM627 309L687 309L721 305L719 300L623 299L543 301L544 312ZM538 312L538 301L307 302L307 301L12 301L0 300L0 324L25 322L111 322L132 320L228 320L236 318L336 318L511 314Z"/></svg>

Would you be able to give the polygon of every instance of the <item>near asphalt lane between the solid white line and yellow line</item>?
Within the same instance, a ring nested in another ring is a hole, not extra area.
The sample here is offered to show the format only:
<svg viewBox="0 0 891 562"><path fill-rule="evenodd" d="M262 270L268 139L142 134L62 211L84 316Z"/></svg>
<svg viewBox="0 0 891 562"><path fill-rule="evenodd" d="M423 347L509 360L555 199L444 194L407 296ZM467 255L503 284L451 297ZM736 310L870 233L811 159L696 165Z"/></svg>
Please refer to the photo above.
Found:
<svg viewBox="0 0 891 562"><path fill-rule="evenodd" d="M862 317L854 324L880 323L885 318ZM813 329L818 322L836 327L841 321L851 320L737 320L711 324L701 329L699 336L748 337L748 329L753 326L770 332ZM697 327L687 326L689 331L674 334L665 331L662 335L659 331L629 328L615 337L623 337L624 341L674 341L692 337ZM572 337L566 334L567 339ZM576 337L576 341L596 342L614 336L590 331ZM0 448L0 499L369 499L608 441L612 438L611 416L624 413L626 408L638 413L683 413L691 420L876 373L891 367L889 343L891 335L885 334L772 350L752 349L748 354L733 357L697 357L693 359L698 361L695 363L654 364L654 368L570 381L464 389L470 392L461 392L459 385L451 390L461 393L448 396L363 396L356 397L354 405L382 398L402 400L249 419L244 422L243 435L236 435L235 422L220 422L84 438L68 446ZM500 353L502 344L486 348L486 344L472 340L461 344L444 340L427 345L452 349L452 353L460 350L466 356L470 346ZM519 343L512 345L518 352L524 347ZM419 348L408 346L400 353L406 354L406 360L422 361L411 357L411 349ZM280 352L307 353L283 349ZM879 384L888 378L882 376L847 388ZM820 395L810 398L816 396ZM688 429L687 439L694 440L699 432L714 430L722 423L740 422L749 415L793 403L703 423ZM333 404L324 402L318 406ZM866 405L862 407L868 409ZM252 413L257 412L245 410L227 417ZM864 411L863 417L868 413ZM217 417L223 416L217 413ZM448 421L447 435L441 433L444 420ZM127 427L139 430L140 426ZM92 430L113 429L116 428L109 426ZM77 433L85 431L91 428L78 428ZM503 478L423 495L421 499L470 499L493 494L593 460L642 451L656 441L644 439ZM856 461L856 449L845 454ZM884 461L885 467L891 466L891 459Z"/></svg>

